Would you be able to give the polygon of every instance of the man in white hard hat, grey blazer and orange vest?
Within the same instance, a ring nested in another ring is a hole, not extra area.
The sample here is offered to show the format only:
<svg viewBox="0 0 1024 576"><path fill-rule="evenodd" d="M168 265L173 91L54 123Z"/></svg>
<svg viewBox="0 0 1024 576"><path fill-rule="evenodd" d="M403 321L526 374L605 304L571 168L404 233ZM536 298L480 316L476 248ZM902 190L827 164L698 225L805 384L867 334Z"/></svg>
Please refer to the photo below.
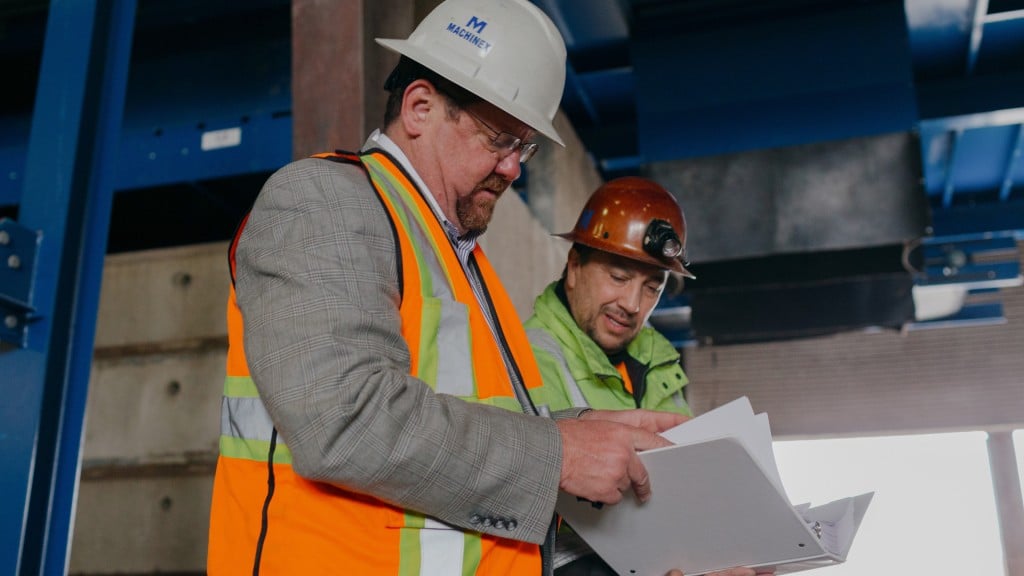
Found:
<svg viewBox="0 0 1024 576"><path fill-rule="evenodd" d="M646 499L637 451L682 420L537 416L476 246L536 135L561 143L547 16L446 0L379 42L402 54L383 131L279 170L231 245L212 576L548 573L558 490Z"/></svg>

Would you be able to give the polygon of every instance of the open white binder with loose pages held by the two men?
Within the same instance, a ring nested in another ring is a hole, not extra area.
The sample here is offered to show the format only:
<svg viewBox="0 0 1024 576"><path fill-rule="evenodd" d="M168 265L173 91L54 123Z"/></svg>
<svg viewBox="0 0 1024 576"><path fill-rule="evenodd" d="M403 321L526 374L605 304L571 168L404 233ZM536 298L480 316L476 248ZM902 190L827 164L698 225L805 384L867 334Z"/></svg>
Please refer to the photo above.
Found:
<svg viewBox="0 0 1024 576"><path fill-rule="evenodd" d="M739 398L663 433L640 454L651 498L599 506L560 493L556 510L618 574L698 576L737 566L787 574L846 561L873 492L790 503L765 414Z"/></svg>

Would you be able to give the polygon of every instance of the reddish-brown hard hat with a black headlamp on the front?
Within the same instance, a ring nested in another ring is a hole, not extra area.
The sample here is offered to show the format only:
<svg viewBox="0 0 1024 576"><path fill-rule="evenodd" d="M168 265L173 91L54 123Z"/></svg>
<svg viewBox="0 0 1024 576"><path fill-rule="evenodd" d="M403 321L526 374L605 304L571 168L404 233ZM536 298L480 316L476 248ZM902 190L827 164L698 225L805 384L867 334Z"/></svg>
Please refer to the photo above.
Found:
<svg viewBox="0 0 1024 576"><path fill-rule="evenodd" d="M591 195L572 232L557 236L696 278L686 270L683 209L669 191L647 178L609 180Z"/></svg>

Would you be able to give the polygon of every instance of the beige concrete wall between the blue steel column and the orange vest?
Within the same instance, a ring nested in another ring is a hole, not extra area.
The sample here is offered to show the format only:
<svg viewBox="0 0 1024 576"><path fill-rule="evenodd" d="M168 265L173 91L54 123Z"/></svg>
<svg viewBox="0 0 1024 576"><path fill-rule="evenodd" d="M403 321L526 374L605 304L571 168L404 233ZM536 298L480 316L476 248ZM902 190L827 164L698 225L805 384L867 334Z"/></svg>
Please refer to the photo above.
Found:
<svg viewBox="0 0 1024 576"><path fill-rule="evenodd" d="M72 574L205 572L226 254L218 243L106 258Z"/></svg>

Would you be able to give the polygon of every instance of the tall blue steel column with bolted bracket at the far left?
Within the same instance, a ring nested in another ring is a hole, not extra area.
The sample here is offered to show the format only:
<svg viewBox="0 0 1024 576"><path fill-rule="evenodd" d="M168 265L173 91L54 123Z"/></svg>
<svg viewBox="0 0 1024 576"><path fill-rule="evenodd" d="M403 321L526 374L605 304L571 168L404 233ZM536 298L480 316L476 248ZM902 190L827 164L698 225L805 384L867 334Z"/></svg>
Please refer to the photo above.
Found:
<svg viewBox="0 0 1024 576"><path fill-rule="evenodd" d="M34 308L0 353L0 575L67 571L135 0L52 0L18 224Z"/></svg>

